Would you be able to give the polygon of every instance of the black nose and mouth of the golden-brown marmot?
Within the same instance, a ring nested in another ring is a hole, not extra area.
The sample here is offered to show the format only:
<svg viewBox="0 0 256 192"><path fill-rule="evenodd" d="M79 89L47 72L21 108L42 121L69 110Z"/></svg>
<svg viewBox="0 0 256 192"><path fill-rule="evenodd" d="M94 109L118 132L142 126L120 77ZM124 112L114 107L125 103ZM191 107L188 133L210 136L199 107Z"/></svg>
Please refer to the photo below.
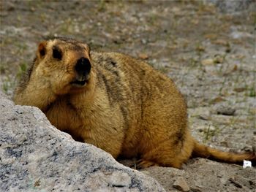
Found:
<svg viewBox="0 0 256 192"><path fill-rule="evenodd" d="M91 63L88 58L80 58L75 64L75 78L72 82L75 85L85 85L86 81L89 80L89 74L91 72Z"/></svg>

